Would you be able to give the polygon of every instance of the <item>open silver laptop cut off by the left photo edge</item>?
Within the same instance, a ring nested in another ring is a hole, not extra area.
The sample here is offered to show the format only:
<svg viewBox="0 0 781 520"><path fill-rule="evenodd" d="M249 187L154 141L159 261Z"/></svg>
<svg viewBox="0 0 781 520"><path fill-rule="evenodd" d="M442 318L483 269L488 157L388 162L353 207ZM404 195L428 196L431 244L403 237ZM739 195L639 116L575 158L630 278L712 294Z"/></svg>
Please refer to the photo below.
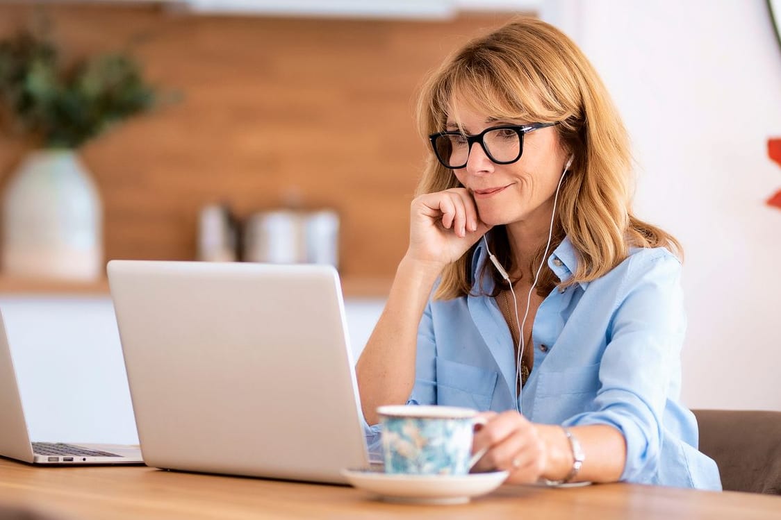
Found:
<svg viewBox="0 0 781 520"><path fill-rule="evenodd" d="M78 404L74 404L78 406ZM0 455L30 464L142 464L137 447L117 444L30 442L11 348L0 314Z"/></svg>

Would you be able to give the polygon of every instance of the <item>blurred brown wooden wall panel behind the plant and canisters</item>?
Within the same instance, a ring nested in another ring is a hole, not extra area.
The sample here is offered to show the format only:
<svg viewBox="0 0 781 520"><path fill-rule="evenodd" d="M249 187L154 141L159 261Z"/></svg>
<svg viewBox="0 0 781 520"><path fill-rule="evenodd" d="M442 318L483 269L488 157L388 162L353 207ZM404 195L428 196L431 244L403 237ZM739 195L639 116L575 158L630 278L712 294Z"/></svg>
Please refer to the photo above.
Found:
<svg viewBox="0 0 781 520"><path fill-rule="evenodd" d="M237 214L298 193L341 216L341 272L388 278L408 237L425 143L416 89L448 52L507 15L448 22L184 16L159 7L49 6L71 55L123 48L184 98L87 144L108 258L191 259L198 210ZM0 35L33 10L0 6ZM7 176L25 143L0 140Z"/></svg>

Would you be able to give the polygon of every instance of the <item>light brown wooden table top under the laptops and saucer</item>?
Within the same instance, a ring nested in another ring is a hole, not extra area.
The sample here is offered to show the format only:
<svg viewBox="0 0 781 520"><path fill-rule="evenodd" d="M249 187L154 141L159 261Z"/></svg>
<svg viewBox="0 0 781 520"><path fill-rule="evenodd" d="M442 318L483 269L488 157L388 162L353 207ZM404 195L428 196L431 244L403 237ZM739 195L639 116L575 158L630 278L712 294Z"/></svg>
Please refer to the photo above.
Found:
<svg viewBox="0 0 781 520"><path fill-rule="evenodd" d="M166 472L39 468L0 458L0 504L69 520L105 518L781 518L781 497L608 484L501 486L462 505L391 504L347 486Z"/></svg>

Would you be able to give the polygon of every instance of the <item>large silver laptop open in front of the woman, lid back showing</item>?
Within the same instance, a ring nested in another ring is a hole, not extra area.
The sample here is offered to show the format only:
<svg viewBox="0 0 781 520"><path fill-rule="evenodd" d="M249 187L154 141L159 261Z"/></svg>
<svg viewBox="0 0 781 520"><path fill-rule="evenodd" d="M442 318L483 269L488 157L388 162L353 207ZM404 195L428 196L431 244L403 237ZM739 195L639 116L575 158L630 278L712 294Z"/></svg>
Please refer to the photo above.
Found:
<svg viewBox="0 0 781 520"><path fill-rule="evenodd" d="M109 262L148 465L346 483L368 465L337 272Z"/></svg>

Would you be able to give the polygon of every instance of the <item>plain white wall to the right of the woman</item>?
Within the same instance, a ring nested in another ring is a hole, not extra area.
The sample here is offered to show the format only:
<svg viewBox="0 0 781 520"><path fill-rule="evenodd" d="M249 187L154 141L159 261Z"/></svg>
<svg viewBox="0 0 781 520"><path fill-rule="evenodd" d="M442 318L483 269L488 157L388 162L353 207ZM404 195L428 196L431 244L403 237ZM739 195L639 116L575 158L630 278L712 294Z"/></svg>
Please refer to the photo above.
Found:
<svg viewBox="0 0 781 520"><path fill-rule="evenodd" d="M686 251L683 399L781 410L781 48L764 0L554 0L638 162L636 209Z"/></svg>

